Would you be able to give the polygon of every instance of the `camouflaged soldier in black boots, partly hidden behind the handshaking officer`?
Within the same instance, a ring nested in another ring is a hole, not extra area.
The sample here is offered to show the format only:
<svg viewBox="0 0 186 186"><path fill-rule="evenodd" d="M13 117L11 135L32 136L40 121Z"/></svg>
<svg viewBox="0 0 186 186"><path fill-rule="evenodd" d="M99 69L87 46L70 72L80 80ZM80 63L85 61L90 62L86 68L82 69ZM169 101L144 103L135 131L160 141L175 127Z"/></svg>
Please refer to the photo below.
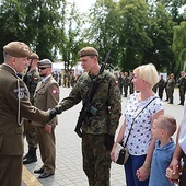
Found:
<svg viewBox="0 0 186 186"><path fill-rule="evenodd" d="M23 78L28 92L30 92L30 101L33 104L34 101L34 93L37 86L38 81L40 80L38 70L37 70L37 62L38 62L38 55L33 53L30 57L30 66L27 69L26 74ZM35 131L35 127L31 125L31 120L24 120L24 136L26 137L26 141L28 143L28 152L23 158L23 164L30 164L37 161L36 156L36 149L37 149L37 136Z"/></svg>

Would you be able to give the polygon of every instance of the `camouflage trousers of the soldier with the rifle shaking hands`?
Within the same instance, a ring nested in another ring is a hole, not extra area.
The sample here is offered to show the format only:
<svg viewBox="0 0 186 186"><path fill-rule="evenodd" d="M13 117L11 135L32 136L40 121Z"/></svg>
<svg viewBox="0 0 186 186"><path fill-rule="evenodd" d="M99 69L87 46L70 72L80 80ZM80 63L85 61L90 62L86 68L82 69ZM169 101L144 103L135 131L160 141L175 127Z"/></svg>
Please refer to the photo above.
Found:
<svg viewBox="0 0 186 186"><path fill-rule="evenodd" d="M111 156L105 148L106 135L82 135L83 171L89 186L109 186Z"/></svg>

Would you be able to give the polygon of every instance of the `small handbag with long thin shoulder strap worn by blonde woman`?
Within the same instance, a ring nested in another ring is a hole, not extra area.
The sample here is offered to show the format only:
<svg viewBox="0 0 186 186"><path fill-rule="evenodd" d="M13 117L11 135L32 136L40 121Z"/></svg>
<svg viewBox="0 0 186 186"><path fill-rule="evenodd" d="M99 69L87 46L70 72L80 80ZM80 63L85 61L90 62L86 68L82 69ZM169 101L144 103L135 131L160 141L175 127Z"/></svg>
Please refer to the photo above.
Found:
<svg viewBox="0 0 186 186"><path fill-rule="evenodd" d="M126 139L126 142L125 142L125 146L121 146L119 142L117 142L116 144L116 149L115 149L115 152L114 152L114 155L115 155L115 163L119 164L119 165L124 165L128 158L129 158L129 152L128 152L128 149L127 149L127 141L128 141L128 138L129 138L129 135L131 132L131 129L132 129L132 126L133 126L133 123L135 123L135 119L138 117L138 115L153 101L158 97L153 97L133 118L133 121L131 123L131 126L130 126L130 130L129 130L129 133L127 136L127 139Z"/></svg>

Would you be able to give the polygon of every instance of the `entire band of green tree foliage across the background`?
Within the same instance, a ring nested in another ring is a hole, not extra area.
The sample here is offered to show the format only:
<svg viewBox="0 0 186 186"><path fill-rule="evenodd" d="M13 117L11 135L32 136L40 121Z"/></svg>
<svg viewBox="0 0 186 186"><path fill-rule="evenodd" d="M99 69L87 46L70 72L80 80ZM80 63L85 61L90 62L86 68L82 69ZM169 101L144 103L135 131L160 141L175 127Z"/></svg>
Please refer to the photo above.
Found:
<svg viewBox="0 0 186 186"><path fill-rule="evenodd" d="M168 73L183 69L186 12L178 10L185 0L96 0L84 13L74 2L2 0L1 51L7 43L22 40L40 58L55 60L60 54L70 69L79 61L78 51L93 46L101 61L112 50L115 69L131 71L149 62Z"/></svg>

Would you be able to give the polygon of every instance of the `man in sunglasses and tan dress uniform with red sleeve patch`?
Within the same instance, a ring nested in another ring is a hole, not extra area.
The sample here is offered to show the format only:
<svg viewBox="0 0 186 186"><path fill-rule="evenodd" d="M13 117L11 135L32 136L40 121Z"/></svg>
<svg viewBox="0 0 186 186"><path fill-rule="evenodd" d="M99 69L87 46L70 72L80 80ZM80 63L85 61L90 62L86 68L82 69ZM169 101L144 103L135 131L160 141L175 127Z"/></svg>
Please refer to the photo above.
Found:
<svg viewBox="0 0 186 186"><path fill-rule="evenodd" d="M53 63L49 59L43 59L38 62L39 75L43 80L38 83L35 96L34 106L43 111L48 111L55 107L59 102L59 85L51 75ZM57 118L47 123L45 126L42 123L32 121L35 127L40 158L43 165L35 170L34 173L40 174L38 178L46 178L55 174L56 168L56 138L55 128Z"/></svg>

